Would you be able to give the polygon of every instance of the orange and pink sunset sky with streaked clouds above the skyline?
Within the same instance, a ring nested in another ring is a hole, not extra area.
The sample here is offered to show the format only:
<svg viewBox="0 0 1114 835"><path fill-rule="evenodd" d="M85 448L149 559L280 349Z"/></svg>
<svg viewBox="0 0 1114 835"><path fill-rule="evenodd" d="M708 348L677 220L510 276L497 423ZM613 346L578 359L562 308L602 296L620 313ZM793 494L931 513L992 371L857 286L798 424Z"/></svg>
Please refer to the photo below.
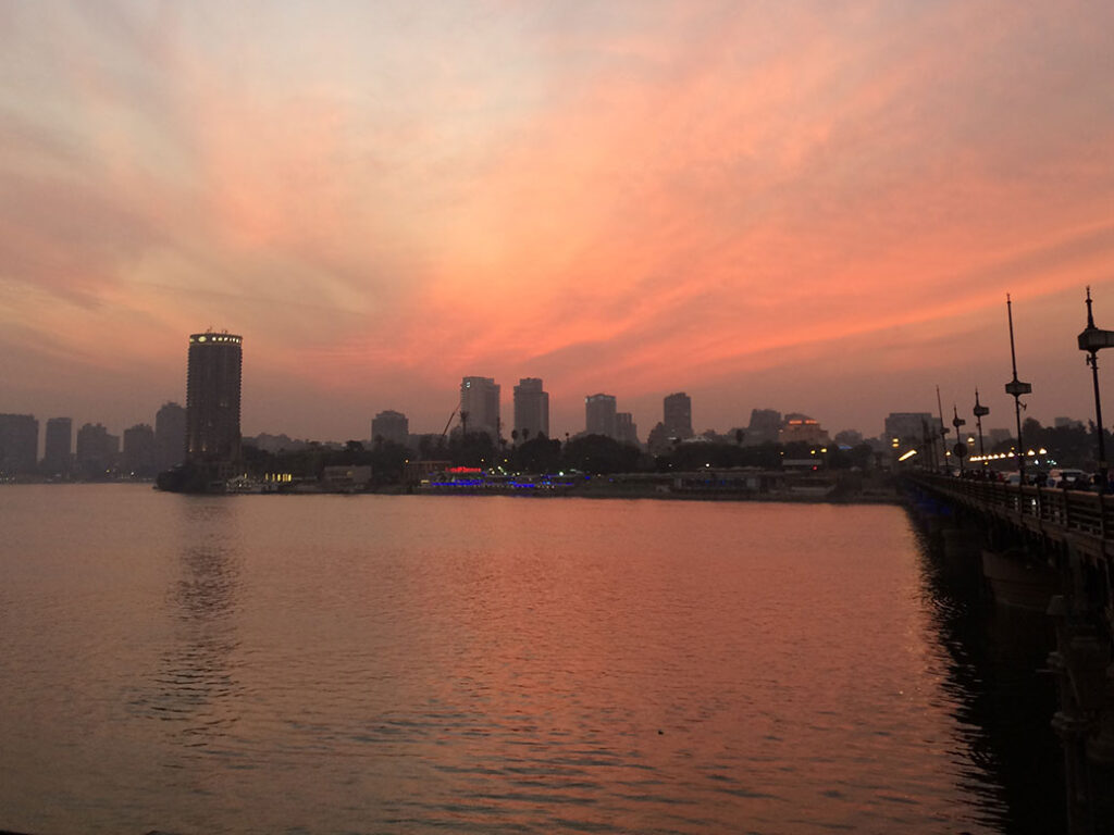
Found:
<svg viewBox="0 0 1114 835"><path fill-rule="evenodd" d="M0 0L0 412L152 423L213 328L248 435L440 432L465 375L555 434L1010 426L1008 293L1026 416L1087 419L1111 43L1108 0Z"/></svg>

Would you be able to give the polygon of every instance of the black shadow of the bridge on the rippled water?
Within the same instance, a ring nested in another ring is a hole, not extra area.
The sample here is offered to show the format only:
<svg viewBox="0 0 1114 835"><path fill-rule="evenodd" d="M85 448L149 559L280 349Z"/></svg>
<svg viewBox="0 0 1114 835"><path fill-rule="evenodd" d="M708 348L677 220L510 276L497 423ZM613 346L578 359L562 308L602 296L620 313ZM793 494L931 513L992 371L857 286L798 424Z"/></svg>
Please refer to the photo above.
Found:
<svg viewBox="0 0 1114 835"><path fill-rule="evenodd" d="M1052 728L1055 647L1047 615L995 605L971 567L957 570L920 533L922 593L939 641L979 817L1007 835L1066 831L1063 752Z"/></svg>

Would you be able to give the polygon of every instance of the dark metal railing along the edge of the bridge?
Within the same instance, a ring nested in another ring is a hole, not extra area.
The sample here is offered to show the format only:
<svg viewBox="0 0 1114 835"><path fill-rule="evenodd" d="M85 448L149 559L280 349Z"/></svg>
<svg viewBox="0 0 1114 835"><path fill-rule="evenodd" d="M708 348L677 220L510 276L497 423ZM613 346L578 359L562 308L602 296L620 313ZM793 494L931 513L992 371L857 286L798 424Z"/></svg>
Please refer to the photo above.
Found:
<svg viewBox="0 0 1114 835"><path fill-rule="evenodd" d="M930 490L995 515L1034 519L1065 531L1114 539L1114 495L931 473L918 473L912 478Z"/></svg>

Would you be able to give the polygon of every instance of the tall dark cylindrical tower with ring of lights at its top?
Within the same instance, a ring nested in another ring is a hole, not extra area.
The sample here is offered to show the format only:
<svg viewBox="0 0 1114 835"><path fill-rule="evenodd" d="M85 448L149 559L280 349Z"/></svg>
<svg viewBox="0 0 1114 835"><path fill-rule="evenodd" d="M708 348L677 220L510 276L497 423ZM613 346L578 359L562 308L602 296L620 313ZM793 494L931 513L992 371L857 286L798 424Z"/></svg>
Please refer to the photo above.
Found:
<svg viewBox="0 0 1114 835"><path fill-rule="evenodd" d="M229 333L189 336L186 372L186 460L240 460L240 382L243 337Z"/></svg>

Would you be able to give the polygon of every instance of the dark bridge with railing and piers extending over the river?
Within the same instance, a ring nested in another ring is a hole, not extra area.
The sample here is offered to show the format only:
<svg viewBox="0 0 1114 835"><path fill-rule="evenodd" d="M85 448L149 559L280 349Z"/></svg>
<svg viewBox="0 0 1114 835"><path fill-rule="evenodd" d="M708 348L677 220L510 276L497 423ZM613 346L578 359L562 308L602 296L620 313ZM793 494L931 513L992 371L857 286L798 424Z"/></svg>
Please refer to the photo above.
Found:
<svg viewBox="0 0 1114 835"><path fill-rule="evenodd" d="M1114 835L1114 495L926 472L905 485L952 564L1053 618L1068 832Z"/></svg>

